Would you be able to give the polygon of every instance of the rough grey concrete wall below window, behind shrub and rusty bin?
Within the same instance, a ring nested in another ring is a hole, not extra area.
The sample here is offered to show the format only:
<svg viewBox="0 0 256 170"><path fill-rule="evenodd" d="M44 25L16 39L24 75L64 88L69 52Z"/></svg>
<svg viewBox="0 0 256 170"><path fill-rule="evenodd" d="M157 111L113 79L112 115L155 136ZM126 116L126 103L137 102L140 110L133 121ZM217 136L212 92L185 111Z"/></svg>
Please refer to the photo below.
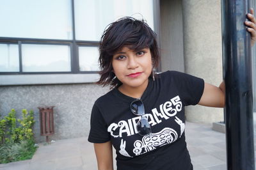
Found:
<svg viewBox="0 0 256 170"><path fill-rule="evenodd" d="M54 105L54 130L51 140L88 136L92 106L100 96L109 91L95 84L53 84L0 86L0 114L11 109L21 118L22 109L35 112L33 132L36 142L45 141L40 136L39 110L37 107Z"/></svg>

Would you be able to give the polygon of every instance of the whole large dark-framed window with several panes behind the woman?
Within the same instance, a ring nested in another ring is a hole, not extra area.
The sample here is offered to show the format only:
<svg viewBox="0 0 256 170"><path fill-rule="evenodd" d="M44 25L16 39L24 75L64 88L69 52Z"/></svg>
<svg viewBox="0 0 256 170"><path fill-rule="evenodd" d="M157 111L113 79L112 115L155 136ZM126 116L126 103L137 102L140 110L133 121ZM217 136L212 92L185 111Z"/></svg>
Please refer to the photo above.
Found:
<svg viewBox="0 0 256 170"><path fill-rule="evenodd" d="M100 36L124 16L154 29L153 0L2 0L0 75L97 74Z"/></svg>

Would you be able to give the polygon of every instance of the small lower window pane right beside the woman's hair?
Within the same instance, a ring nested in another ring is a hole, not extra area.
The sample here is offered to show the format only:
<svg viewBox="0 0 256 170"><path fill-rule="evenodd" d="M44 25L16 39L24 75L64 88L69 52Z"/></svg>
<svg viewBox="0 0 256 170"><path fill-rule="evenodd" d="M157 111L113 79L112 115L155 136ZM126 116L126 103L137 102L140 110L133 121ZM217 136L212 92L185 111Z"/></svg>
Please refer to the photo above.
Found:
<svg viewBox="0 0 256 170"><path fill-rule="evenodd" d="M99 49L98 47L79 47L79 70L99 71Z"/></svg>

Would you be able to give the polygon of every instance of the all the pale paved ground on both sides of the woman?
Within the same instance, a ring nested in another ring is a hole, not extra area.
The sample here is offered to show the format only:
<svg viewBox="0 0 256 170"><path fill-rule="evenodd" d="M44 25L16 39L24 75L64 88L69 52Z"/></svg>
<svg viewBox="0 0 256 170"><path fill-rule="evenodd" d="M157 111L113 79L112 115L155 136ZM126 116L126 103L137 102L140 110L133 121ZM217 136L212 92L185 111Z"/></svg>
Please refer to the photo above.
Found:
<svg viewBox="0 0 256 170"><path fill-rule="evenodd" d="M186 141L195 170L227 169L225 134L211 130L211 125L186 122ZM0 169L93 170L97 169L95 159L93 144L81 137L39 144L31 160L0 164Z"/></svg>

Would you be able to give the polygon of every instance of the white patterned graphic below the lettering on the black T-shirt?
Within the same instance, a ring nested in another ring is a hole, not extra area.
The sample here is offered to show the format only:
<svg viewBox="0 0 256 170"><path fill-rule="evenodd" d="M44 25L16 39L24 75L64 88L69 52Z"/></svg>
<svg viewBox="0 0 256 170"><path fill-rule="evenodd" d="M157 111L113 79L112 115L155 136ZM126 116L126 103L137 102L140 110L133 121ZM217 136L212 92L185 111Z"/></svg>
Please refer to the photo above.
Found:
<svg viewBox="0 0 256 170"><path fill-rule="evenodd" d="M175 121L180 125L180 136L183 134L185 129L185 123L182 122L177 116L175 116ZM170 144L175 142L178 139L178 134L173 128L163 128L160 132L152 133L151 136L145 135L140 140L136 140L134 142L134 149L132 150L133 153L138 156L148 151L155 150L157 146L164 146L166 144ZM122 139L120 144L120 151L121 155L125 157L131 157L127 151L125 150L125 141Z"/></svg>

